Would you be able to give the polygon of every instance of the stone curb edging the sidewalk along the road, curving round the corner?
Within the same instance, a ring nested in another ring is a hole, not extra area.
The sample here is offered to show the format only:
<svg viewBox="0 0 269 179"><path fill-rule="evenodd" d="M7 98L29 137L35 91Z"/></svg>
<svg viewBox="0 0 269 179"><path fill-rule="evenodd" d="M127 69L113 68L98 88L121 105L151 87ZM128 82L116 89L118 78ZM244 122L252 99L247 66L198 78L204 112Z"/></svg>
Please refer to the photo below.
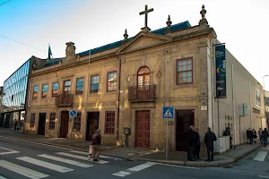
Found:
<svg viewBox="0 0 269 179"><path fill-rule="evenodd" d="M15 140L30 141L30 142L35 142L35 143L39 143L39 144L45 144L45 145L48 145L48 146L56 146L56 147L61 147L61 148L74 149L74 150L88 152L88 149L75 148L75 147L69 146L69 145L62 145L62 144L41 142L41 141L35 141L35 140L29 140L29 139L22 139L22 138L11 137L11 136L6 136L6 135L0 135L0 137L1 136L6 137L6 138L15 139ZM260 149L261 147L262 147L262 145L259 145L256 148L251 149L251 150L247 151L246 153L239 155L237 158L230 158L230 159L226 159L226 160L222 160L222 161L213 161L213 162L191 162L191 161L185 162L185 161L161 160L161 159L152 159L152 158L126 158L126 157L121 157L121 156L117 156L117 155L109 155L109 154L103 154L103 155L113 157L113 158L123 158L123 159L129 159L129 160L150 161L150 162L156 162L156 163L168 164L168 165L175 165L175 166L228 166L230 164L233 164L233 163L237 162L241 158L245 158L247 155L254 152L256 149ZM113 147L113 148L110 148L110 149L116 149L116 148ZM104 149L104 150L106 150L106 149Z"/></svg>

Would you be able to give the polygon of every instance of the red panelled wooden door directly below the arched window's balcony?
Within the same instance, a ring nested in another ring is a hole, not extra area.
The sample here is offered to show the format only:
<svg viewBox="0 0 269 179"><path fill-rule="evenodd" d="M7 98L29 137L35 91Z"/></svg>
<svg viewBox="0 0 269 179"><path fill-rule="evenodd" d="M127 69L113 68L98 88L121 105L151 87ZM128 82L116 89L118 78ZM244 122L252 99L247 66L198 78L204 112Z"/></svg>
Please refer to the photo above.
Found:
<svg viewBox="0 0 269 179"><path fill-rule="evenodd" d="M136 147L150 148L150 111L136 111Z"/></svg>

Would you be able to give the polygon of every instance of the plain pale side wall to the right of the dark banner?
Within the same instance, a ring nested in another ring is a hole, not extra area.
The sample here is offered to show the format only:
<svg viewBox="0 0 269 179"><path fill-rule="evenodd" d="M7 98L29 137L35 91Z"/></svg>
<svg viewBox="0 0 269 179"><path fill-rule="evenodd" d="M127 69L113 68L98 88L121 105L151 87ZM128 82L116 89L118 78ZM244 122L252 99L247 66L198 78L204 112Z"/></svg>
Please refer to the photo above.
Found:
<svg viewBox="0 0 269 179"><path fill-rule="evenodd" d="M215 63L214 60L215 59L213 59L213 63ZM232 65L234 69L233 73L234 73L235 116L233 116L233 101L232 101L232 79L231 79ZM234 136L236 136L236 138L234 138L236 144L244 143L247 141L246 137L247 128L253 127L256 131L258 131L259 127L261 126L263 128L266 127L263 86L259 84L258 81L256 81L256 79L249 72L247 72L247 69L242 64L240 64L239 61L233 55L231 55L227 49L226 49L226 81L227 81L227 98L214 99L213 131L216 133L217 136L222 136L226 127L230 126L233 138ZM256 105L256 89L260 90L260 101L261 101L260 107ZM247 116L239 116L240 114L239 107L243 103L247 104ZM253 107L259 110L260 114L253 113L252 112ZM219 117L218 117L218 111L219 111Z"/></svg>

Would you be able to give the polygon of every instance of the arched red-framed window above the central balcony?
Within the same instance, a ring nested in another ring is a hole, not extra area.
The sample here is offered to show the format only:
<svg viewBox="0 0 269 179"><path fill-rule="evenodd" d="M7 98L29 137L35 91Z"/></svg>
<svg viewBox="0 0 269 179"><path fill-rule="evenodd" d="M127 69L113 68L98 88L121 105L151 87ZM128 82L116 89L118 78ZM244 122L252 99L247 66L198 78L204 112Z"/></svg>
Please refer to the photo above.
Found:
<svg viewBox="0 0 269 179"><path fill-rule="evenodd" d="M149 90L151 81L151 71L149 67L142 66L137 72L137 89Z"/></svg>

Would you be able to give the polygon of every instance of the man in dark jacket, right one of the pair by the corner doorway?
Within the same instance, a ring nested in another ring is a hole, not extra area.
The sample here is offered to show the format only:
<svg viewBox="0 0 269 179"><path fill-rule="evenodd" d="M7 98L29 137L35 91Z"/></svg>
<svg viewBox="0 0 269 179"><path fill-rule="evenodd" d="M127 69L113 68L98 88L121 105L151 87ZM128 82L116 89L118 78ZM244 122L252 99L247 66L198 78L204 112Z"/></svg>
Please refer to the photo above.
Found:
<svg viewBox="0 0 269 179"><path fill-rule="evenodd" d="M205 143L206 149L207 149L207 160L206 161L213 161L214 141L217 141L217 137L214 134L214 132L211 131L211 128L208 127L208 132L206 132L204 135L204 143ZM211 156L210 156L210 153L211 153Z"/></svg>

